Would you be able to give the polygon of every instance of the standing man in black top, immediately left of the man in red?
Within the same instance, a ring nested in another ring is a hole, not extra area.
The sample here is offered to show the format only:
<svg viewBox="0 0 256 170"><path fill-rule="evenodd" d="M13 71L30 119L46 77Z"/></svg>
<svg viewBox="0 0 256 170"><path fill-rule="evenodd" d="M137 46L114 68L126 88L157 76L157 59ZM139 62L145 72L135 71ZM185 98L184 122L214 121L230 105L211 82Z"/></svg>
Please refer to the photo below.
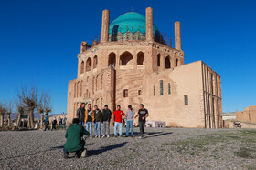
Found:
<svg viewBox="0 0 256 170"><path fill-rule="evenodd" d="M102 110L102 120L103 120L103 135L102 137L110 137L110 121L112 118L112 111L109 109L108 105L105 105Z"/></svg>

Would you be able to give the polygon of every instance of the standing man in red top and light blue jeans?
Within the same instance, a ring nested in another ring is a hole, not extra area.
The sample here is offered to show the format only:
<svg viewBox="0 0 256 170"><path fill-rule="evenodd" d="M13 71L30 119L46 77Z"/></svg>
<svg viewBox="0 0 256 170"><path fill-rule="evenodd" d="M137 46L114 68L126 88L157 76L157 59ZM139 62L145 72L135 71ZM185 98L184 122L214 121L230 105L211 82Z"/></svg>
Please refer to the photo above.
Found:
<svg viewBox="0 0 256 170"><path fill-rule="evenodd" d="M122 136L122 116L125 115L123 110L121 110L121 106L117 105L117 110L113 112L113 120L114 120L114 136L117 137L117 128L119 129L119 136Z"/></svg>

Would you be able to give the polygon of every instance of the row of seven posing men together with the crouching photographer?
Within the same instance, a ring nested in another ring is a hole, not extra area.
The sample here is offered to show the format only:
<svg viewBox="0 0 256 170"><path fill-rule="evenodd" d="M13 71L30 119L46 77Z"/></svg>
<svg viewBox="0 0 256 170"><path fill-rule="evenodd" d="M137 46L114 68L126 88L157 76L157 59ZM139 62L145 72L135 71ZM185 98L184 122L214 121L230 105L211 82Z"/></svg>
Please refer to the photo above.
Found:
<svg viewBox="0 0 256 170"><path fill-rule="evenodd" d="M94 123L95 137L101 137L101 124L103 126L102 137L110 137L110 122L111 119L114 121L114 136L117 137L117 129L119 130L119 136L122 136L123 128L123 116L127 119L126 121L126 137L129 135L131 130L131 136L133 137L133 119L139 117L140 126L140 138L144 138L144 125L145 119L148 116L147 109L144 105L140 105L140 109L137 114L132 105L128 105L128 110L124 114L121 110L121 106L117 105L117 110L112 114L112 111L108 108L108 105L104 105L102 111L97 105L94 105L94 110L91 108L91 104L88 104L88 108L85 109L85 103L80 105L77 110L77 117L72 121L72 125L66 131L65 137L67 141L63 147L64 158L69 158L69 153L75 152L75 157L80 158L82 153L86 150L84 148L85 141L83 135L90 135L92 138L92 124ZM85 126L85 128L84 128ZM90 132L89 132L90 131Z"/></svg>

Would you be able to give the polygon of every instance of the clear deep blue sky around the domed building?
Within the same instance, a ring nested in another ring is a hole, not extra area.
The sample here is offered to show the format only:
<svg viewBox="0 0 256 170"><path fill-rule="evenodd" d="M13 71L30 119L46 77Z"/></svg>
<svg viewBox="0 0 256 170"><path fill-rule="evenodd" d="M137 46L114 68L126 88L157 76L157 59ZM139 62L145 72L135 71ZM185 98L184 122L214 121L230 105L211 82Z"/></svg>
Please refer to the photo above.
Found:
<svg viewBox="0 0 256 170"><path fill-rule="evenodd" d="M67 110L68 81L77 75L81 41L101 33L101 14L111 22L153 7L154 23L174 36L181 22L185 63L204 61L222 82L223 111L256 105L256 1L0 1L0 101L35 82L53 97L53 113Z"/></svg>

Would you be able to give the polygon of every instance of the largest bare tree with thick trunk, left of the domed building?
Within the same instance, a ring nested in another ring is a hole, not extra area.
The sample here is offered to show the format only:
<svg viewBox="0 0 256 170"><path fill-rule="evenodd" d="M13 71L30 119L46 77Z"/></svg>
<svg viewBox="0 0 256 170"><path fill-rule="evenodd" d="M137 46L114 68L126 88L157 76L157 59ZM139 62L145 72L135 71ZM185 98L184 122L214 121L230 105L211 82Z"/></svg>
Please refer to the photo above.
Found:
<svg viewBox="0 0 256 170"><path fill-rule="evenodd" d="M37 107L38 102L38 88L36 85L21 85L21 89L16 91L16 103L27 111L27 127L34 128L34 109Z"/></svg>

